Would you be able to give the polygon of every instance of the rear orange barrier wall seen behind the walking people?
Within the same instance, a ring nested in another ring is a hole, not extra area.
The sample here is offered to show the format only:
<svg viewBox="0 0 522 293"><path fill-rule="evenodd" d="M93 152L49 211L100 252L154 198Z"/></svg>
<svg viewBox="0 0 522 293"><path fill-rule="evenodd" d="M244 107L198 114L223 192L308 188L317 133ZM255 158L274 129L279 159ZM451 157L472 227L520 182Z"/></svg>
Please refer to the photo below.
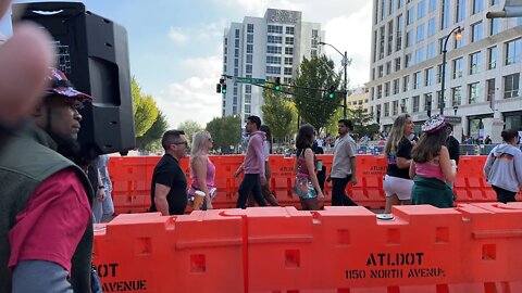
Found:
<svg viewBox="0 0 522 293"><path fill-rule="evenodd" d="M109 161L109 173L113 181L114 206L116 214L146 212L150 206L150 184L152 173L159 156L112 157ZM243 155L210 156L215 164L217 196L213 201L214 208L232 208L236 206L237 190L243 175L234 178L235 170L243 163ZM327 174L332 167L333 155L318 155ZM496 193L486 182L482 169L486 156L461 156L455 194L457 203L495 202ZM295 158L271 155L272 178L270 186L277 201L285 206L300 208L299 198L293 192ZM188 158L181 162L182 168L189 178ZM386 174L386 160L382 156L357 155L358 183L347 187L347 194L359 205L370 208L383 208L385 193L383 177ZM332 183L325 182L325 205L332 201ZM522 198L522 192L518 199Z"/></svg>

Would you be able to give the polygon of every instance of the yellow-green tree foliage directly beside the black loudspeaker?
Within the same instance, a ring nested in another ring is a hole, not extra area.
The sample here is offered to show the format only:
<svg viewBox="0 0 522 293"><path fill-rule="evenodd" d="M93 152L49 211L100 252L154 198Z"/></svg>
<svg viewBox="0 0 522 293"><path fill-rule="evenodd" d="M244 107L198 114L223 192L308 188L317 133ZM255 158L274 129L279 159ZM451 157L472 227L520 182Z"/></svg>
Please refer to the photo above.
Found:
<svg viewBox="0 0 522 293"><path fill-rule="evenodd" d="M144 136L156 122L159 110L152 95L141 92L141 88L134 76L130 79L130 87L133 94L134 131L138 138Z"/></svg>

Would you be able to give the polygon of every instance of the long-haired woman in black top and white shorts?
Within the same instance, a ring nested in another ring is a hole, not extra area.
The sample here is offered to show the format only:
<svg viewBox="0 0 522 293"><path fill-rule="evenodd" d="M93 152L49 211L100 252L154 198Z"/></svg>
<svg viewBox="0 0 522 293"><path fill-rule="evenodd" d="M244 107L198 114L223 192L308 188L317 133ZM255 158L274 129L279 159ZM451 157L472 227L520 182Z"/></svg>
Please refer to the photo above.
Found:
<svg viewBox="0 0 522 293"><path fill-rule="evenodd" d="M410 178L412 143L408 139L413 133L413 120L408 114L399 115L389 131L384 156L388 168L384 176L383 188L386 193L384 214L391 213L391 206L410 204L413 180Z"/></svg>

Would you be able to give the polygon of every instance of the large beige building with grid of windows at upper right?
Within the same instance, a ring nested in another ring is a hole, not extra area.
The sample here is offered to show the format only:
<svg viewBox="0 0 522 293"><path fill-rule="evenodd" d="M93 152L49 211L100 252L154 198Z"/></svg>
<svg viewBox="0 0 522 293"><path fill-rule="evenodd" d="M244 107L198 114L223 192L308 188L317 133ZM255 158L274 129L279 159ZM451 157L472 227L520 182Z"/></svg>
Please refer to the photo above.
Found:
<svg viewBox="0 0 522 293"><path fill-rule="evenodd" d="M373 0L370 112L384 128L402 112L415 125L440 112L455 136L500 142L522 130L522 18L486 18L505 0ZM451 30L460 26L462 38ZM443 48L447 63L442 101ZM444 102L444 103L443 103ZM452 117L451 117L452 116Z"/></svg>

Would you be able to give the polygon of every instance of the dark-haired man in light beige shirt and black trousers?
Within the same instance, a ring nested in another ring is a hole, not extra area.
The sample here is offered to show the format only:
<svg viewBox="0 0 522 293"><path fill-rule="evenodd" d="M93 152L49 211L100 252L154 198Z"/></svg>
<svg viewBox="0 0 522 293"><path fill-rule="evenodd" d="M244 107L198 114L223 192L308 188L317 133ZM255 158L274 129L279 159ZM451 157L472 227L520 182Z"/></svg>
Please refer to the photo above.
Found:
<svg viewBox="0 0 522 293"><path fill-rule="evenodd" d="M340 119L337 124L339 137L334 144L334 163L330 177L332 180L332 205L343 206L357 205L345 193L346 186L351 182L357 184L356 177L356 141L350 137L349 131L353 130L353 124L348 119Z"/></svg>

